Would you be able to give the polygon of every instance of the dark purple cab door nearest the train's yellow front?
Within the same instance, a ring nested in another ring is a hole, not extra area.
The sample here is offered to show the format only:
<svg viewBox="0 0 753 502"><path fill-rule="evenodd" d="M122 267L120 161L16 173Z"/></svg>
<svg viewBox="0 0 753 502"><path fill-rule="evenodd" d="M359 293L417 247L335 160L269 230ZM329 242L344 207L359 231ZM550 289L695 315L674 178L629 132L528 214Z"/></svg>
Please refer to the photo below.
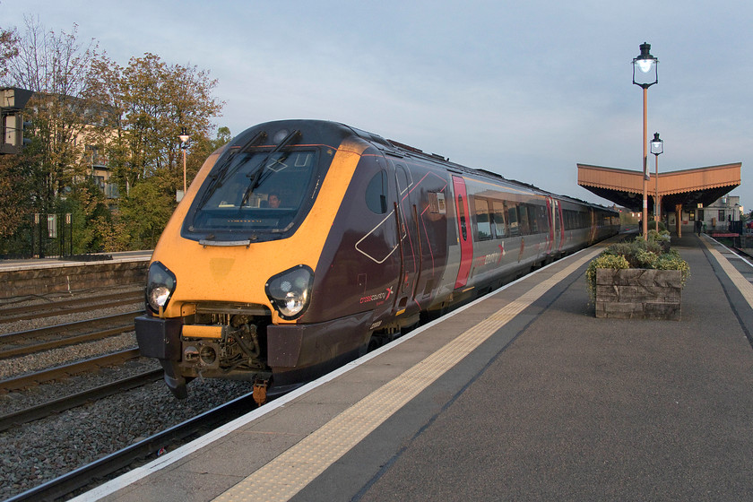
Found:
<svg viewBox="0 0 753 502"><path fill-rule="evenodd" d="M395 309L400 312L409 307L420 271L420 234L418 227L419 193L414 191L411 171L399 162L393 167L397 201L395 215L398 222L398 240L401 260L400 284L395 295Z"/></svg>

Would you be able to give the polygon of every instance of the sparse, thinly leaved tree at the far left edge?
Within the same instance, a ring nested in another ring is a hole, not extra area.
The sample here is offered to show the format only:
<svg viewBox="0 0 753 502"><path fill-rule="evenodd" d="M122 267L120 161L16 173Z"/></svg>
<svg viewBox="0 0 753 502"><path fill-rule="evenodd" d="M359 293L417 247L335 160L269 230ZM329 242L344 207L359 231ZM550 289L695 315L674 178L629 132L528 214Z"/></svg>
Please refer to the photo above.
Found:
<svg viewBox="0 0 753 502"><path fill-rule="evenodd" d="M32 213L74 211L74 198L68 195L86 172L85 137L96 121L97 106L90 98L97 47L93 41L79 42L75 25L70 33L56 33L30 17L21 34L8 33L0 44L0 83L34 92L23 110L24 119L33 124L32 142L22 154L5 155L2 162L7 176L0 207L13 215L4 227L4 247L15 252L19 241L29 240L24 232L30 230L24 227Z"/></svg>

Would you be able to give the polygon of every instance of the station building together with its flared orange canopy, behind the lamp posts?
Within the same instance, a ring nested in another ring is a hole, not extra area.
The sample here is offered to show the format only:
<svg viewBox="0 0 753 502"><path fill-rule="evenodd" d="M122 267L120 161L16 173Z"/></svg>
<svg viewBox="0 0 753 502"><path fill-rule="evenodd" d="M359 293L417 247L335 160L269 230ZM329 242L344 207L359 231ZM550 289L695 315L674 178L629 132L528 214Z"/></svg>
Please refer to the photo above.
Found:
<svg viewBox="0 0 753 502"><path fill-rule="evenodd" d="M643 211L644 173L578 164L578 185L630 211ZM740 197L728 195L740 186L742 162L651 173L647 180L649 229L653 216L678 236L692 232L696 221L706 231L741 233ZM658 210L653 211L658 201ZM655 215L654 215L655 212Z"/></svg>

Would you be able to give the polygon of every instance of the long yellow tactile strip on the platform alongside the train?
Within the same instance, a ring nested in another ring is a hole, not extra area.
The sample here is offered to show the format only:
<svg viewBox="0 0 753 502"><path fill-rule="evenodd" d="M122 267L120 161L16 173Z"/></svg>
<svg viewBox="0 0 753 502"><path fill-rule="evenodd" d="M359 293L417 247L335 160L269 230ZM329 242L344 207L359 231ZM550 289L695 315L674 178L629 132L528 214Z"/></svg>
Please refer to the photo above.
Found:
<svg viewBox="0 0 753 502"><path fill-rule="evenodd" d="M401 376L376 389L348 410L342 411L323 427L214 500L289 500L395 411L520 314L524 308L529 307L551 287L601 251L602 249L597 247L584 253L567 268L541 281L520 298L447 343Z"/></svg>

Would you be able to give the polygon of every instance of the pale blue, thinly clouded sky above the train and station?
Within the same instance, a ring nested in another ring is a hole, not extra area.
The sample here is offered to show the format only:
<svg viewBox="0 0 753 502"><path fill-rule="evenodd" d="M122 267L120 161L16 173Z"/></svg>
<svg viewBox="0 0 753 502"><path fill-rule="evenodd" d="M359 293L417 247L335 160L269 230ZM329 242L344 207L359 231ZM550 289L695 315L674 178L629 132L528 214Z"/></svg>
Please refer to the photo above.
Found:
<svg viewBox="0 0 753 502"><path fill-rule="evenodd" d="M0 28L23 31L24 16L77 26L119 65L151 53L208 71L225 102L214 124L233 135L333 120L605 205L576 164L641 169L631 63L648 42L660 174L742 162L731 195L753 209L749 0L0 0Z"/></svg>

